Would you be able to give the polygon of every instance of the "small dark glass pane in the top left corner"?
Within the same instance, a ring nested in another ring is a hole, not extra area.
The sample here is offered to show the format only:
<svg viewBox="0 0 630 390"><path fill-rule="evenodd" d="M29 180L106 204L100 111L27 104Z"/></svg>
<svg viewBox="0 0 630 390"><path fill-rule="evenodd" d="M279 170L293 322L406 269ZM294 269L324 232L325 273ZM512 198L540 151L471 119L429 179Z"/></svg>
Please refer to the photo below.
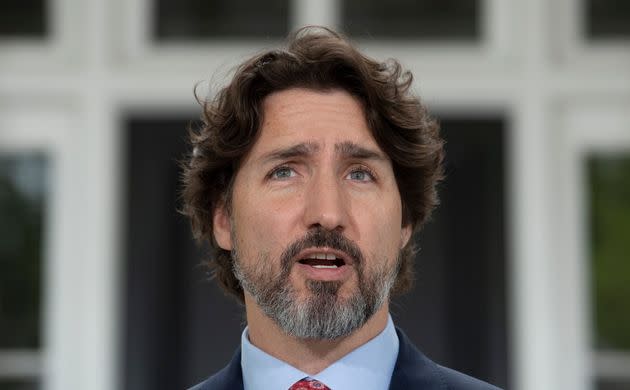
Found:
<svg viewBox="0 0 630 390"><path fill-rule="evenodd" d="M46 35L44 0L3 0L0 11L0 38Z"/></svg>

